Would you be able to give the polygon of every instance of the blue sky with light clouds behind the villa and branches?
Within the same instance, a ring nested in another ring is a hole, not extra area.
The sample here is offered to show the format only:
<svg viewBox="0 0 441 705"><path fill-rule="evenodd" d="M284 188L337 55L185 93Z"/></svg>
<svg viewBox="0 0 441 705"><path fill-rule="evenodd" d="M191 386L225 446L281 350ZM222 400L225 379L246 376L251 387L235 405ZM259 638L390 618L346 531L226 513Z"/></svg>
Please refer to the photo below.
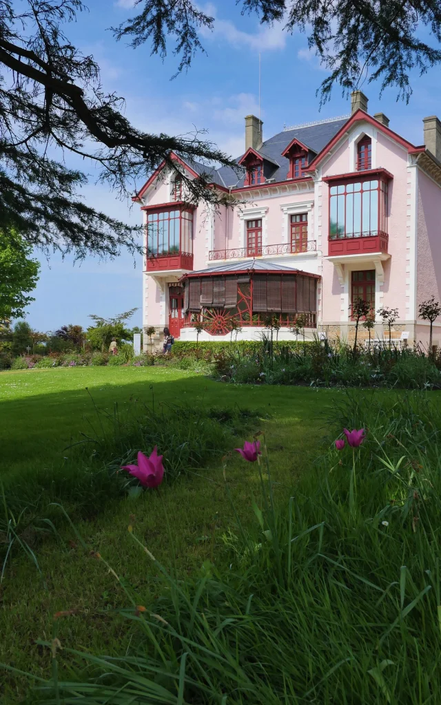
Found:
<svg viewBox="0 0 441 705"><path fill-rule="evenodd" d="M241 154L243 118L258 111L259 52L264 139L282 130L284 124L349 113L349 102L338 88L319 112L315 91L327 74L308 50L305 35L288 35L282 25L263 27L255 16L241 16L236 0L205 5L216 18L215 30L203 32L207 54L196 56L191 69L174 80L170 78L178 62L171 51L162 63L150 56L147 45L133 50L126 42L115 42L109 31L133 16L131 0L114 4L90 0L89 4L90 11L67 28L68 37L95 56L104 90L126 99L126 116L143 130L178 135L206 128L207 138L225 152L234 157ZM380 99L378 85L366 82L361 88L368 95L370 114L385 112L393 130L421 145L422 118L441 117L439 83L439 68L422 78L413 75L413 95L407 106L397 103L394 90L387 90ZM78 164L69 157L66 162L90 174L90 183L83 190L86 202L121 220L140 223L138 207L95 184L97 175L91 164ZM54 330L69 323L87 326L88 314L107 317L141 306L140 257L134 261L125 253L107 262L88 257L82 264L73 264L69 257L62 260L59 255L52 255L49 261L39 259L40 281L26 318L35 329ZM140 325L140 310L132 321Z"/></svg>

